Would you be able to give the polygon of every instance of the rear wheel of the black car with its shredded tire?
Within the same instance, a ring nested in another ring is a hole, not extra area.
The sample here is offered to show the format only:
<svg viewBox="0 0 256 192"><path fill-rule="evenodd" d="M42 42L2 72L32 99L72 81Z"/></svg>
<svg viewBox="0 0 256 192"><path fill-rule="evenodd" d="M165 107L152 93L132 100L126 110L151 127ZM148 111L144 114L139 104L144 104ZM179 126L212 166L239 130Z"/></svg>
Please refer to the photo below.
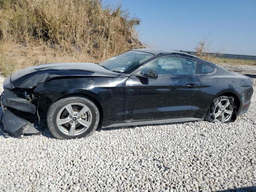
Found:
<svg viewBox="0 0 256 192"><path fill-rule="evenodd" d="M228 104L229 103L229 104ZM236 106L233 97L219 96L214 99L204 120L209 122L228 123L236 119Z"/></svg>

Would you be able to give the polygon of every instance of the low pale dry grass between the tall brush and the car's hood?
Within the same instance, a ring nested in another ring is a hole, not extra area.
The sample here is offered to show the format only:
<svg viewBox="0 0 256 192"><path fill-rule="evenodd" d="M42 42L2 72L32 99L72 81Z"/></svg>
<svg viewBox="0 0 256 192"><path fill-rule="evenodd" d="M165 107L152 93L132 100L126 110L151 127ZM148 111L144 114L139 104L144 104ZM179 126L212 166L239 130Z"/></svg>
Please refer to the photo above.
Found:
<svg viewBox="0 0 256 192"><path fill-rule="evenodd" d="M17 70L30 66L53 62L99 62L88 53L82 51L62 52L41 44L24 45L22 43L2 43L0 46L0 71L8 76Z"/></svg>

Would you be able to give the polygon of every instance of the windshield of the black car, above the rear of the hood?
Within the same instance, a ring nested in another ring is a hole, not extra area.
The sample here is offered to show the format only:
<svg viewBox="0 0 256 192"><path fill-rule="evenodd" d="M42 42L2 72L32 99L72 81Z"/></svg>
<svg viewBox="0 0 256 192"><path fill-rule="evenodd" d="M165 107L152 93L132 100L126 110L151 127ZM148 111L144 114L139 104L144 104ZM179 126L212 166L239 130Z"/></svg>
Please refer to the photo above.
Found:
<svg viewBox="0 0 256 192"><path fill-rule="evenodd" d="M146 52L128 51L112 57L99 65L113 72L126 73L152 56L152 54Z"/></svg>

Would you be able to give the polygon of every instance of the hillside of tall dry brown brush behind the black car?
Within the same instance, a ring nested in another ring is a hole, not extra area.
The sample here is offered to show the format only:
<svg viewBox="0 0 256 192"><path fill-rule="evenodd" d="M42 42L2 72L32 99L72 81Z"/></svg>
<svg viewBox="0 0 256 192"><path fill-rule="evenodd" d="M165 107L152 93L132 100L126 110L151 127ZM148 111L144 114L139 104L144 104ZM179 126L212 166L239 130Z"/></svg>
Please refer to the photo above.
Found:
<svg viewBox="0 0 256 192"><path fill-rule="evenodd" d="M0 71L48 62L100 62L143 47L120 7L98 0L0 0Z"/></svg>

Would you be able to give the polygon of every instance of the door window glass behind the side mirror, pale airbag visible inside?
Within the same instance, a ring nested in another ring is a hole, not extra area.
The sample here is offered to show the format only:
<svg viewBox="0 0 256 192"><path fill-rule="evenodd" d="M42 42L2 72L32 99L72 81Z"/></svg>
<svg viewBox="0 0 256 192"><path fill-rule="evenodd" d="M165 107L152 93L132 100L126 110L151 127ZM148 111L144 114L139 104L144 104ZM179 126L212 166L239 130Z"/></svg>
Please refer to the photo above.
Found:
<svg viewBox="0 0 256 192"><path fill-rule="evenodd" d="M140 74L153 70L159 75L193 75L196 61L180 57L164 57L144 66Z"/></svg>

